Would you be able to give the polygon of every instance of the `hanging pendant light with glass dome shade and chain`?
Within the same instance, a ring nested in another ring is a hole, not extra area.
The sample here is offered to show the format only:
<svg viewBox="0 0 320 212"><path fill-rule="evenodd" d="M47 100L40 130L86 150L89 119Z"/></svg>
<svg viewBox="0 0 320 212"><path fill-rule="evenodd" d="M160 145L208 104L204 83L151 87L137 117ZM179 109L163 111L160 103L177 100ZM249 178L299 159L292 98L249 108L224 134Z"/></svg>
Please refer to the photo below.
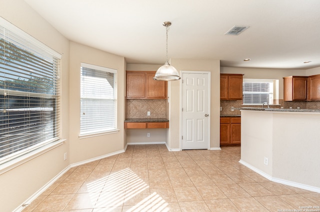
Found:
<svg viewBox="0 0 320 212"><path fill-rule="evenodd" d="M171 25L170 21L162 23L166 27L166 62L155 72L153 79L162 81L173 81L180 79L178 71L168 62L168 31Z"/></svg>

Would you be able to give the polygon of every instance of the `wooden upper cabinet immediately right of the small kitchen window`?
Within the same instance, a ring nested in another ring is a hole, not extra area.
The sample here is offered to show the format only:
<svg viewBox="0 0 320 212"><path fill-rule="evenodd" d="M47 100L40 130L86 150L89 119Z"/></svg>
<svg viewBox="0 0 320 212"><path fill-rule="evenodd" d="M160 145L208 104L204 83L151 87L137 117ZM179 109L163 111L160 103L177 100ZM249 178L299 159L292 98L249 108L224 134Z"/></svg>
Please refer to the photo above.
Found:
<svg viewBox="0 0 320 212"><path fill-rule="evenodd" d="M283 77L283 100L306 100L307 76Z"/></svg>

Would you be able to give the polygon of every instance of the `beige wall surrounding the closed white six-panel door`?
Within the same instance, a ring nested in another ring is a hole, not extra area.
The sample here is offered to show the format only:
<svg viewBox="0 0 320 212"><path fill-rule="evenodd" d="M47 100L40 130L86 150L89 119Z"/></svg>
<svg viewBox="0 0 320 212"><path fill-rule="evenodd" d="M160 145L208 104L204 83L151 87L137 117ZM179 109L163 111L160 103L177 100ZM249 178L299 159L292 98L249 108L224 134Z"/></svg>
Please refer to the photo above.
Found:
<svg viewBox="0 0 320 212"><path fill-rule="evenodd" d="M171 65L181 70L210 71L210 148L220 146L220 61L204 59L171 59ZM181 80L170 81L168 96L170 99L167 145L170 149L180 149L180 83Z"/></svg>

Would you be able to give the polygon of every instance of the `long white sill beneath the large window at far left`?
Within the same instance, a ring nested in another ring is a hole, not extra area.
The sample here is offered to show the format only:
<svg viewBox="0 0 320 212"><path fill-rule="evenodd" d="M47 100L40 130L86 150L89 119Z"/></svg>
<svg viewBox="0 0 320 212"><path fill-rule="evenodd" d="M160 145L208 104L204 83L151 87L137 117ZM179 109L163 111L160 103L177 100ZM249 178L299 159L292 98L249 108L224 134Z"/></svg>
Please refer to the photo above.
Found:
<svg viewBox="0 0 320 212"><path fill-rule="evenodd" d="M33 151L30 151L28 153L25 153L19 157L16 157L14 159L11 159L7 162L4 162L2 164L0 164L0 174L5 173L41 154L44 154L45 152L59 146L62 145L63 142L65 141L65 139L60 139L51 143L48 143L47 145L44 145L40 148L34 149Z"/></svg>

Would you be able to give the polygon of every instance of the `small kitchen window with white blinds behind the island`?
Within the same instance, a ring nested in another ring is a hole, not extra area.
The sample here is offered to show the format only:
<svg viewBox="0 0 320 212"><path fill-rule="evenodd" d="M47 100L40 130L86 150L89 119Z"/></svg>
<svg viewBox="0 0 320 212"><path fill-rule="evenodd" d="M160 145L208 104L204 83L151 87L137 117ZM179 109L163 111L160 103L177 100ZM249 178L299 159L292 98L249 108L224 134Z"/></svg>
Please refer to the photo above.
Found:
<svg viewBox="0 0 320 212"><path fill-rule="evenodd" d="M274 104L276 83L274 79L243 79L242 104L259 105L263 102Z"/></svg>

